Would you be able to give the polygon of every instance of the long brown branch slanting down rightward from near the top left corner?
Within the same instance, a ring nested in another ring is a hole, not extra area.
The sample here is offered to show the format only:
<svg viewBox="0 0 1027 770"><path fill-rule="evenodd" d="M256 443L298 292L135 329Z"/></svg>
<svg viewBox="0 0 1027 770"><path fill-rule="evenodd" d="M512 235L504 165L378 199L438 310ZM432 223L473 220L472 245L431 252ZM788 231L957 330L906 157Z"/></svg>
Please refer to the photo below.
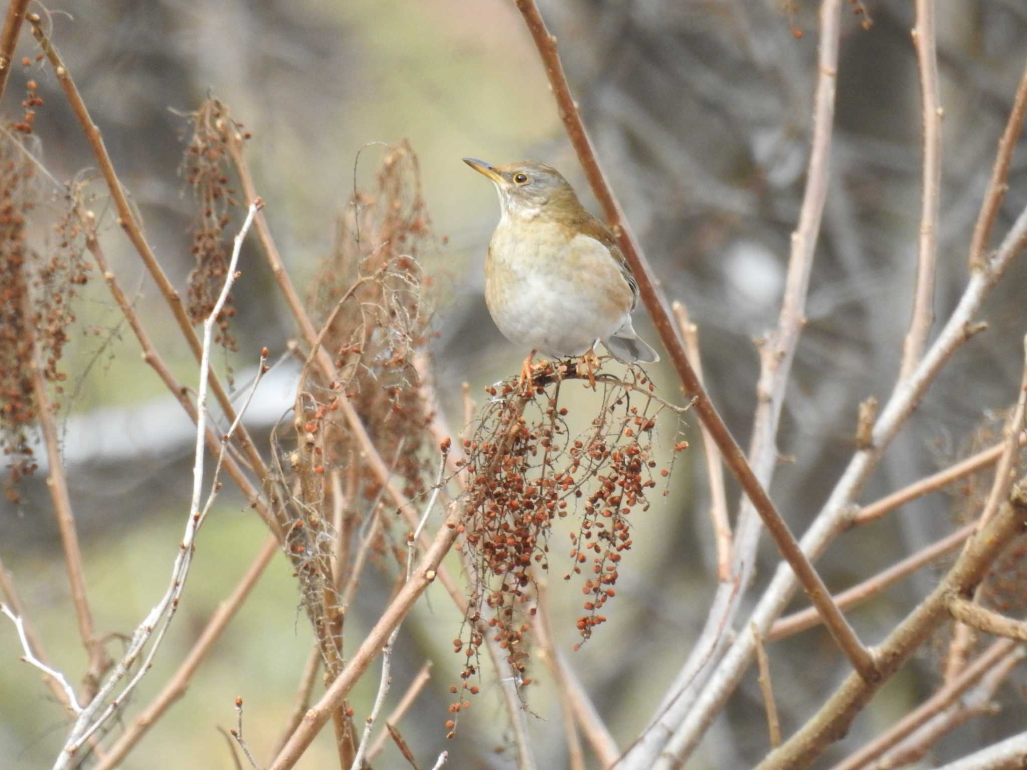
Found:
<svg viewBox="0 0 1027 770"><path fill-rule="evenodd" d="M71 73L61 60L60 53L58 53L56 48L53 47L49 38L46 37L42 28L42 20L39 17L39 14L29 13L26 15L26 21L28 21L32 26L32 34L35 36L37 42L52 66L53 73L56 76L58 82L61 83L61 88L65 92L65 97L68 100L72 113L75 115L76 120L78 120L79 125L82 127L82 131L85 133L86 141L92 149L92 153L97 159L97 165L100 167L100 172L103 176L104 181L107 183L107 188L114 201L114 206L118 216L118 225L122 230L124 230L125 234L128 236L128 240L131 241L131 244L136 247L137 253L143 260L143 264L146 266L147 271L156 281L161 296L172 309L172 314L175 316L179 330L182 332L186 342L189 344L189 349L192 351L196 360L199 361L203 355L203 346L200 344L196 330L193 329L192 321L189 320L189 315L186 313L185 307L182 304L182 298L179 296L178 292L175 291L175 286L172 285L170 280L168 280L167 276L164 274L163 269L160 267L160 263L157 262L156 255L154 255L146 236L143 234L139 221L132 214L124 188L121 186L121 182L118 180L117 174L114 170L114 164L111 162L111 156L107 153L107 148L104 146L104 138L100 132L100 128L92 122L89 110L86 108L85 102L82 100L82 95L79 93L78 86L72 79ZM231 398L229 398L228 393L221 385L221 381L218 379L217 374L213 370L208 372L207 380L211 390L214 391L215 397L218 399L218 403L220 405L222 412L225 414L225 418L229 422L234 421L236 418L235 408L232 406ZM260 452L258 452L257 447L254 445L253 439L250 437L249 432L246 432L245 428L240 425L236 433L239 442L245 452L246 459L253 466L254 471L261 479L266 478L267 467L264 464L264 460L261 457Z"/></svg>

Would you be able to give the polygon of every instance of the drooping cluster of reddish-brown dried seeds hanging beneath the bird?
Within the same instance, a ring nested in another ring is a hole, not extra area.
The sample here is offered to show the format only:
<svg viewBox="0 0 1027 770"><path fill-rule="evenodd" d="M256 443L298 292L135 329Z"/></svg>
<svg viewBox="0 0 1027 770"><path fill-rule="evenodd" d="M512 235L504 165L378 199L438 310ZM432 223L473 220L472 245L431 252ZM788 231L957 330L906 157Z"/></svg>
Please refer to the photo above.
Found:
<svg viewBox="0 0 1027 770"><path fill-rule="evenodd" d="M571 437L557 374L540 373L537 397L528 401L517 395L516 383L488 388L493 400L473 438L464 441L467 513L457 525L462 539L456 547L476 579L464 632L453 645L466 657L464 690L479 670L485 634L505 651L520 683L531 682L527 619L535 612L536 570L548 569L554 521L569 513L580 523L570 536L564 578L586 576L576 625L582 641L592 637L606 621L620 561L632 547L630 514L649 509L646 496L656 476L670 473L657 470L653 453L653 428L665 407L644 375L633 370L629 382L600 378L602 408L586 431ZM451 711L461 706L462 700L454 702Z"/></svg>

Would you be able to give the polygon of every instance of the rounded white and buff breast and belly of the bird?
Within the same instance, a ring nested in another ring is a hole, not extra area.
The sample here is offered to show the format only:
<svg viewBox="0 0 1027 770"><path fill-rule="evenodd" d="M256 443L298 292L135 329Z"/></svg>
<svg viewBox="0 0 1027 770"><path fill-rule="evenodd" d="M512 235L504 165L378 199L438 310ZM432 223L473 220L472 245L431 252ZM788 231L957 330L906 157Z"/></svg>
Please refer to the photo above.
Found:
<svg viewBox="0 0 1027 770"><path fill-rule="evenodd" d="M584 353L620 329L632 291L599 240L556 223L500 222L485 264L485 300L511 342L553 356Z"/></svg>

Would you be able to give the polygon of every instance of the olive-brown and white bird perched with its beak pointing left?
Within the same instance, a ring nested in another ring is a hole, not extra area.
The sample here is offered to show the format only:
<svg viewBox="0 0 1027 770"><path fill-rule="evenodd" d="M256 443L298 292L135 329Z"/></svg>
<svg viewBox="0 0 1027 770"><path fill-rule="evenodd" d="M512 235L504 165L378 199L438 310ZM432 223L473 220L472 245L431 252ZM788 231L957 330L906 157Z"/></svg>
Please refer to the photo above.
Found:
<svg viewBox="0 0 1027 770"><path fill-rule="evenodd" d="M533 160L463 161L499 193L499 224L485 259L485 302L503 336L531 350L522 382L525 372L530 382L536 353L594 356L598 342L622 363L658 361L632 325L639 287L631 267L613 234L581 205L560 171Z"/></svg>

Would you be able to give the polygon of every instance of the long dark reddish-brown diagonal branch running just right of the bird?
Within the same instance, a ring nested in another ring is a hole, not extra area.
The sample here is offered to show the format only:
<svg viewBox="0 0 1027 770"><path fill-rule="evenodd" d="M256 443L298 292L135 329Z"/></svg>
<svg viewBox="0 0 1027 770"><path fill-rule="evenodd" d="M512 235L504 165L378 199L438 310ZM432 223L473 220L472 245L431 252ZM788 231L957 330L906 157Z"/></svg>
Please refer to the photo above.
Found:
<svg viewBox="0 0 1027 770"><path fill-rule="evenodd" d="M549 84L553 86L560 117L564 121L567 134L578 154L578 159L581 161L585 176L592 185L593 192L603 206L607 223L616 236L617 243L629 265L631 265L635 279L638 282L639 296L642 298L646 309L648 309L652 317L653 324L659 333L663 346L671 354L671 360L677 369L682 385L685 391L695 398L694 409L698 413L699 419L710 430L710 434L716 441L721 455L735 478L737 478L746 496L755 506L760 518L763 521L763 525L767 528L767 532L773 538L777 549L799 578L813 605L824 615L825 625L831 631L831 636L838 644L838 647L852 663L852 666L860 671L861 676L867 679L874 679L876 672L873 658L861 644L859 638L855 636L855 631L852 630L852 627L845 620L844 616L831 602L831 594L824 585L824 581L802 552L795 536L785 523L785 519L777 512L766 490L760 484L753 468L746 460L741 449L724 424L717 409L713 406L713 401L710 400L710 396L699 382L695 370L692 369L691 363L688 361L684 345L675 331L662 295L656 288L652 277L652 270L629 230L620 207L613 197L610 186L607 184L603 170L599 165L595 149L585 132L581 115L571 97L567 78L564 76L563 65L560 63L560 55L557 51L556 37L550 35L546 29L534 0L517 0L517 6L521 10L535 41L535 45L538 48L539 55L549 79ZM837 42L837 36L835 36L835 42ZM835 73L832 71L826 74L831 78L830 91L833 97ZM831 110L830 115L833 116L833 110ZM826 150L827 148L825 147L823 151L826 152ZM811 234L815 235L815 231ZM811 248L812 243L808 247ZM801 324L802 318L797 317L795 321Z"/></svg>

